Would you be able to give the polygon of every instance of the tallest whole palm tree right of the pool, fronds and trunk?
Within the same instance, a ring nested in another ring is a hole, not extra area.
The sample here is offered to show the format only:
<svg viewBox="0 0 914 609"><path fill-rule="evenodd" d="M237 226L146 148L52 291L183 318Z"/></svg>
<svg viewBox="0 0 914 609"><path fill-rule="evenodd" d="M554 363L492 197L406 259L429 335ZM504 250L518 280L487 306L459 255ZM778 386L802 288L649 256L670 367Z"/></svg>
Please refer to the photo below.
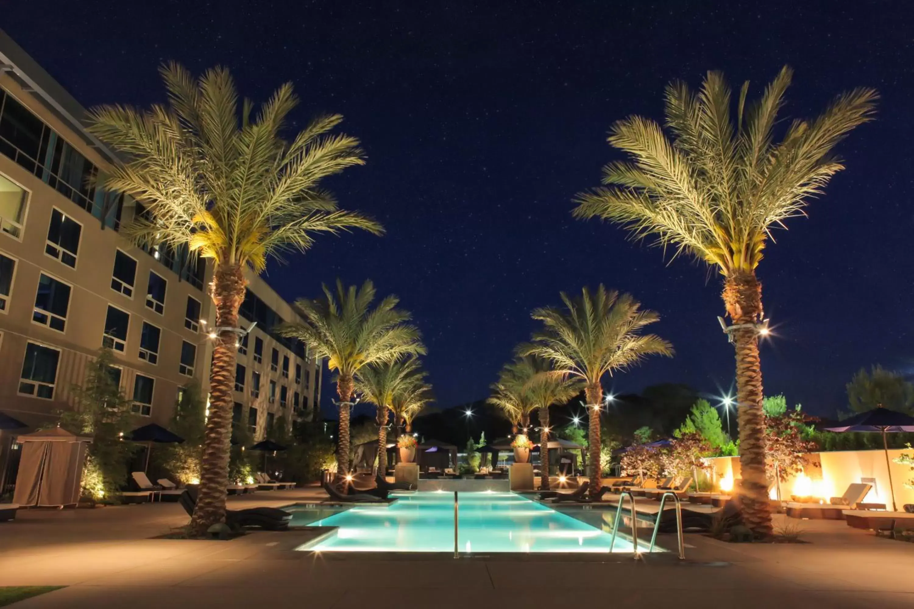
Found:
<svg viewBox="0 0 914 609"><path fill-rule="evenodd" d="M701 90L685 83L666 89L666 126L632 116L610 131L612 146L630 162L608 164L605 187L579 194L574 214L627 226L633 236L654 235L675 254L685 252L717 268L736 348L739 461L743 518L758 535L771 533L765 482L762 383L758 337L768 332L756 268L771 228L805 215L807 199L844 166L835 144L871 121L877 93L854 89L838 96L813 121L795 120L775 142L774 127L792 70L781 69L761 99L746 107L749 83L739 91L735 123L730 89L708 72Z"/></svg>

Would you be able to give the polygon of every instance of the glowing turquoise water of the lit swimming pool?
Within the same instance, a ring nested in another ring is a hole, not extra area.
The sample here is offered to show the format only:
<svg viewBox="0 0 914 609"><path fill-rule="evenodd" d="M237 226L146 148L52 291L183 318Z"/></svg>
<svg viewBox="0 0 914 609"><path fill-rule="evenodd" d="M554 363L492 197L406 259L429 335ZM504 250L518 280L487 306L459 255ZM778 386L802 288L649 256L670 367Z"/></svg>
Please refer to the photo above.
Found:
<svg viewBox="0 0 914 609"><path fill-rule="evenodd" d="M454 549L453 493L396 495L391 505L356 505L314 526L336 534L299 550L448 551ZM461 552L608 552L611 535L515 493L460 493ZM293 517L292 523L295 524ZM632 551L622 534L613 551Z"/></svg>

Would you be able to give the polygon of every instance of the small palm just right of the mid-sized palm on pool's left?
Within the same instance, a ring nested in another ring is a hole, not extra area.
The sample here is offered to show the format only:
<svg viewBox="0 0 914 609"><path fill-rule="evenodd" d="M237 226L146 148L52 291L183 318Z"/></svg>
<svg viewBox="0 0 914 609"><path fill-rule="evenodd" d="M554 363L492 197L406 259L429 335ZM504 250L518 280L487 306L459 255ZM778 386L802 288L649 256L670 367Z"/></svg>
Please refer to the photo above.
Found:
<svg viewBox="0 0 914 609"><path fill-rule="evenodd" d="M395 397L425 384L424 376L415 357L379 362L356 373L356 392L377 406L377 472L381 476L388 470L388 409L393 408Z"/></svg>

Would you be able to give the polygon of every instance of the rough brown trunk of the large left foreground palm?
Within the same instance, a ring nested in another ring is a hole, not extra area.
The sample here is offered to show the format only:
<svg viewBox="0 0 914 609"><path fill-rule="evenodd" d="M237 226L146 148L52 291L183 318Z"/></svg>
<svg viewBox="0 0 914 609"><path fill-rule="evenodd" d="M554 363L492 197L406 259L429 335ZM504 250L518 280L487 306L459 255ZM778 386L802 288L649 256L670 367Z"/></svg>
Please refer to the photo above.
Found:
<svg viewBox="0 0 914 609"><path fill-rule="evenodd" d="M247 281L238 265L219 265L210 285L216 305L216 327L238 328L238 310ZM221 331L216 337L209 373L209 409L200 459L200 488L191 518L191 530L203 535L218 522L225 522L228 493L228 440L231 436L232 392L238 334Z"/></svg>

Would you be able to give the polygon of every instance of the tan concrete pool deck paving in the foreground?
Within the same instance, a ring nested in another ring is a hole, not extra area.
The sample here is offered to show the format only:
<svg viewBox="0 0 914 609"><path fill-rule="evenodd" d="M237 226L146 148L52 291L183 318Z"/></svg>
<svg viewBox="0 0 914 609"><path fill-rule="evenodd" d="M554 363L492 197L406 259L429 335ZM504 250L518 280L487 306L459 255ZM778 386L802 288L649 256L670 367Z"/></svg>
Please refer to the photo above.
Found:
<svg viewBox="0 0 914 609"><path fill-rule="evenodd" d="M319 488L229 498L230 507L324 499ZM653 505L656 505L654 502ZM653 507L639 502L639 510ZM777 516L776 526L786 517ZM0 585L66 585L16 609L130 606L429 607L660 604L685 607L911 607L914 544L843 521L789 520L802 544L730 544L687 534L686 561L647 556L313 556L314 533L234 541L151 539L186 524L175 503L21 510L0 523ZM672 536L658 543L675 547Z"/></svg>

